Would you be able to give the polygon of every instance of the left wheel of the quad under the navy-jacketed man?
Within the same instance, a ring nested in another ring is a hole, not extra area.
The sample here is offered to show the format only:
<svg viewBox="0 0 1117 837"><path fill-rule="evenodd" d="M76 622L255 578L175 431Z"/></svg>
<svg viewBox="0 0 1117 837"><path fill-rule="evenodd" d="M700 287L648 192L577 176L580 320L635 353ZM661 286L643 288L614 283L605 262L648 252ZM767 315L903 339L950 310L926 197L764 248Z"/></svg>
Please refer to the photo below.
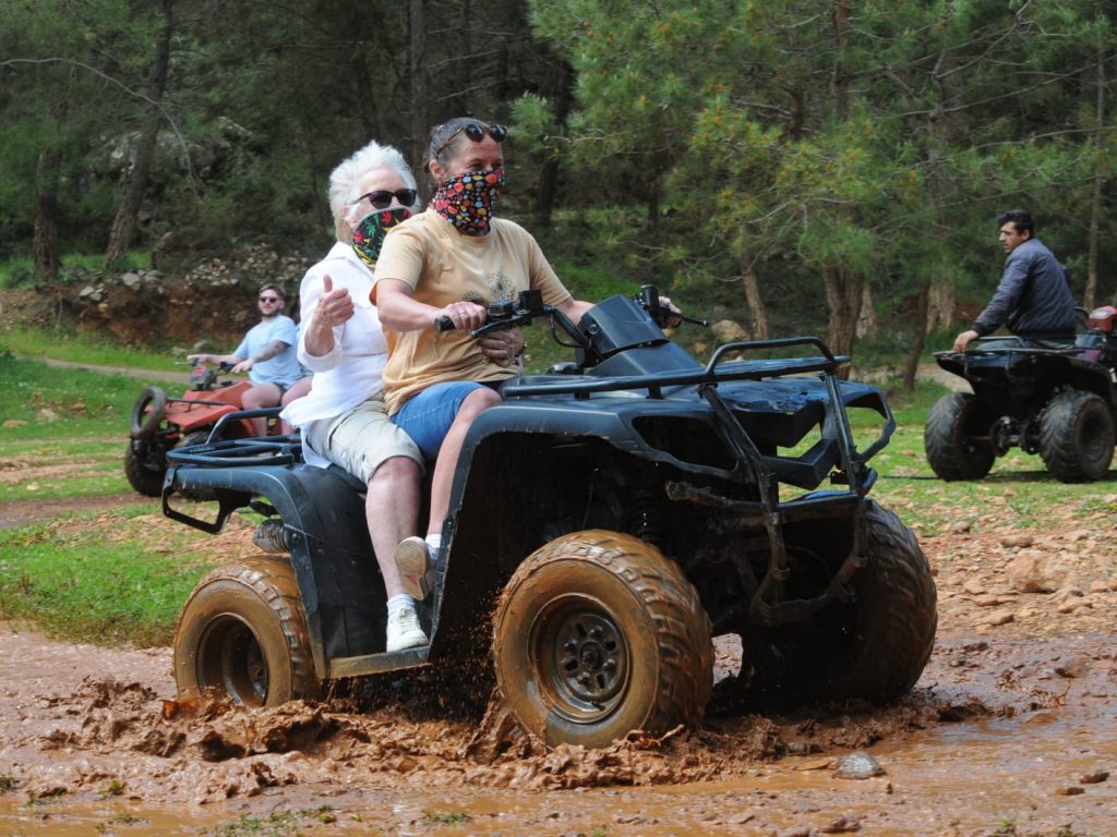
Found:
<svg viewBox="0 0 1117 837"><path fill-rule="evenodd" d="M990 442L993 417L970 393L951 393L935 402L923 432L930 470L943 480L980 480L996 454Z"/></svg>

